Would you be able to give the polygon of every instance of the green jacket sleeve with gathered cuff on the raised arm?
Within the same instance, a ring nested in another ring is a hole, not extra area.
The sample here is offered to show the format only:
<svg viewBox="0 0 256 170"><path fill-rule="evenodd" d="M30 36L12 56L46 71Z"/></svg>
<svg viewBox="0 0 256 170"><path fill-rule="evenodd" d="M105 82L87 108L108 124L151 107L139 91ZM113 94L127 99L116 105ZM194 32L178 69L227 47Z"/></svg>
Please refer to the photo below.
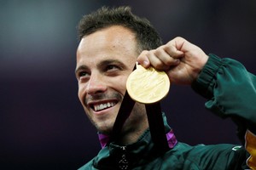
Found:
<svg viewBox="0 0 256 170"><path fill-rule="evenodd" d="M192 88L207 98L208 110L236 122L238 136L251 155L247 164L256 162L256 76L234 59L209 54Z"/></svg>

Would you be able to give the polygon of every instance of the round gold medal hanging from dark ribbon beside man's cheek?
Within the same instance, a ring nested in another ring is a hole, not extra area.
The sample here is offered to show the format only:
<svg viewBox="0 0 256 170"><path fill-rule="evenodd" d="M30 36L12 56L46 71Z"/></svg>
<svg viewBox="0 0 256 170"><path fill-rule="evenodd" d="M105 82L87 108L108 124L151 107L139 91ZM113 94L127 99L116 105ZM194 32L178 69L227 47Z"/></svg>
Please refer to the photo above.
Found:
<svg viewBox="0 0 256 170"><path fill-rule="evenodd" d="M152 104L166 97L170 81L165 71L156 71L153 67L145 69L137 65L126 82L126 88L131 99L143 104Z"/></svg>

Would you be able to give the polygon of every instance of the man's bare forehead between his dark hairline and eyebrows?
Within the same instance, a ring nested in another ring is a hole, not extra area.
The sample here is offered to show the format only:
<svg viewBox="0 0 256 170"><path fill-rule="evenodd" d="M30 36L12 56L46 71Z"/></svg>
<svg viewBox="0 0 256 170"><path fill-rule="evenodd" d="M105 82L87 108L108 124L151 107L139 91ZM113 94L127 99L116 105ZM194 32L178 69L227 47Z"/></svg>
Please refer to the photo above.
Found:
<svg viewBox="0 0 256 170"><path fill-rule="evenodd" d="M77 59L121 54L137 55L135 35L123 26L111 26L83 37L77 50Z"/></svg>

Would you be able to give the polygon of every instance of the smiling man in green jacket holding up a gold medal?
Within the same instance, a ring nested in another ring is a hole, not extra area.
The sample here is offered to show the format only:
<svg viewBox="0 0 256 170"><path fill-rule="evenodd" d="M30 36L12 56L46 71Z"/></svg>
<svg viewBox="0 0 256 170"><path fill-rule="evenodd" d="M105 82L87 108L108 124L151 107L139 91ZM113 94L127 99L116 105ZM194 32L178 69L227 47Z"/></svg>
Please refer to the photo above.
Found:
<svg viewBox="0 0 256 170"><path fill-rule="evenodd" d="M80 169L256 168L256 77L239 62L207 55L182 37L162 45L148 20L131 14L129 7L103 7L85 15L79 23L79 39L79 100L102 143L99 154ZM166 71L172 83L192 86L208 99L208 110L230 116L241 129L239 135L246 133L246 141L242 141L245 147L189 146L177 142L165 121L169 150L156 150L148 130L146 106L138 102L118 138L110 140L126 80L136 62Z"/></svg>

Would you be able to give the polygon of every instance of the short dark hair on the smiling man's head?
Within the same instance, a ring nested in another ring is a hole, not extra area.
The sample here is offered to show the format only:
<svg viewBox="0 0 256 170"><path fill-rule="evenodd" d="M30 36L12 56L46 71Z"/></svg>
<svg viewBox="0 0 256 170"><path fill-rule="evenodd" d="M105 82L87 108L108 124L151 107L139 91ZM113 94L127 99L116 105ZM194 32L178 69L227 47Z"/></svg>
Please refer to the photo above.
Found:
<svg viewBox="0 0 256 170"><path fill-rule="evenodd" d="M128 6L102 7L91 14L84 15L79 21L79 40L110 26L124 26L132 31L137 39L138 53L142 50L158 48L162 44L159 33L154 29L154 26L147 19L132 14L131 8Z"/></svg>

